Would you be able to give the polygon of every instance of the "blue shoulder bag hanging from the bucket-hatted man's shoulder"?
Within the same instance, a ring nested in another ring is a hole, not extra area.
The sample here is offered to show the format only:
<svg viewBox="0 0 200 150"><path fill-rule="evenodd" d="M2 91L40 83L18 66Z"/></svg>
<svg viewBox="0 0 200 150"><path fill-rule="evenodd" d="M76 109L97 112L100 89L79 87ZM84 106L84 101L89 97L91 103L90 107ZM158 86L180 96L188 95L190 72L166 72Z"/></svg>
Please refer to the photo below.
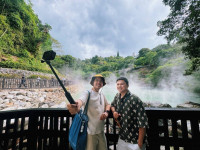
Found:
<svg viewBox="0 0 200 150"><path fill-rule="evenodd" d="M88 91L88 99L84 108L77 113L72 121L69 129L69 143L73 150L85 150L87 143L87 127L88 127L88 102L90 99L90 92Z"/></svg>

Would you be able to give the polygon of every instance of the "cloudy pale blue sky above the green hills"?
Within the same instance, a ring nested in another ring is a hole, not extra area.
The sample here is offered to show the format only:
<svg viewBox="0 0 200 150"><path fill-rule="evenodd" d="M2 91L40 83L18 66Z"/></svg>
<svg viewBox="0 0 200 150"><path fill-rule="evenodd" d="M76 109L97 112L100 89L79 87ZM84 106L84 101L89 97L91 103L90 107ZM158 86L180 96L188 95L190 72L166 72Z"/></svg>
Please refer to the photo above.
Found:
<svg viewBox="0 0 200 150"><path fill-rule="evenodd" d="M142 48L166 44L157 36L157 22L170 9L161 0L31 0L51 36L62 45L61 55L86 59L138 54Z"/></svg>

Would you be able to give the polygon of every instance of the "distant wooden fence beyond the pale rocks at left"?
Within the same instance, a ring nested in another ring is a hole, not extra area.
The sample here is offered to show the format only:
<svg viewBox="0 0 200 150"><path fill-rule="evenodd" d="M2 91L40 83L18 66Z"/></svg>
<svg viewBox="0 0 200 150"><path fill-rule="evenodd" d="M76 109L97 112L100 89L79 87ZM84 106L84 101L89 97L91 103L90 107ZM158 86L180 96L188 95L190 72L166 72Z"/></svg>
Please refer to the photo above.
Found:
<svg viewBox="0 0 200 150"><path fill-rule="evenodd" d="M64 86L72 84L68 80L62 80ZM0 78L0 89L35 89L35 88L54 88L59 87L60 84L57 80L46 80L46 79L26 79L25 82L22 79L10 79Z"/></svg>

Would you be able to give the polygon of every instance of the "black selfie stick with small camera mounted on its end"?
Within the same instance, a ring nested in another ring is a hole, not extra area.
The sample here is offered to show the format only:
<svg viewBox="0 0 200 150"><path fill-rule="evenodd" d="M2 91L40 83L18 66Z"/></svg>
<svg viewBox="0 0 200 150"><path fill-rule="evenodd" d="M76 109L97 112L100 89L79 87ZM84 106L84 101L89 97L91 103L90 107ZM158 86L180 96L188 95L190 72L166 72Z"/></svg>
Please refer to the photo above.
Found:
<svg viewBox="0 0 200 150"><path fill-rule="evenodd" d="M50 60L54 60L55 56L56 56L56 53L54 51L52 51L52 50L46 51L43 54L43 57L42 57L43 60L41 60L41 62L42 63L46 62L49 65L53 74L56 76L58 82L60 83L60 86L63 88L63 90L65 92L65 96L68 99L68 101L70 102L70 104L76 104L74 99L72 98L71 94L66 90L65 86L63 85L62 81L59 79L58 75L56 74L55 70L53 69L53 67L50 63Z"/></svg>

